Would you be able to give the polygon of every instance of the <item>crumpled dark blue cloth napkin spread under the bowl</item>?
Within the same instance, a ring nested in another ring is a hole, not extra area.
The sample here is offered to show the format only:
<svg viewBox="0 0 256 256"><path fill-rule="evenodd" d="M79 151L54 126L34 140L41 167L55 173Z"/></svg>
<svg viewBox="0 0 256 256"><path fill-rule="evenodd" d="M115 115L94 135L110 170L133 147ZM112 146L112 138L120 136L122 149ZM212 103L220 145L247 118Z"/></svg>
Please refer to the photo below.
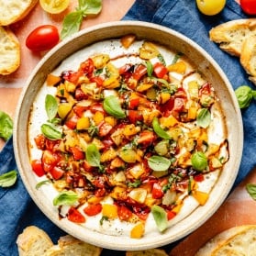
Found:
<svg viewBox="0 0 256 256"><path fill-rule="evenodd" d="M128 11L125 20L141 20L173 28L190 39L194 39L218 62L234 89L241 84L253 86L243 71L239 60L219 50L217 44L208 39L210 28L228 20L245 18L234 0L228 0L224 11L215 17L206 17L197 11L193 0L137 0ZM256 105L242 111L244 124L244 149L239 175L235 185L255 166L256 156ZM0 174L17 169L12 139L9 139L0 153ZM43 228L53 242L64 234L34 204L24 187L20 176L10 188L0 187L0 256L17 256L17 235L29 225ZM166 246L167 251L173 245ZM123 251L104 250L102 255L125 255Z"/></svg>

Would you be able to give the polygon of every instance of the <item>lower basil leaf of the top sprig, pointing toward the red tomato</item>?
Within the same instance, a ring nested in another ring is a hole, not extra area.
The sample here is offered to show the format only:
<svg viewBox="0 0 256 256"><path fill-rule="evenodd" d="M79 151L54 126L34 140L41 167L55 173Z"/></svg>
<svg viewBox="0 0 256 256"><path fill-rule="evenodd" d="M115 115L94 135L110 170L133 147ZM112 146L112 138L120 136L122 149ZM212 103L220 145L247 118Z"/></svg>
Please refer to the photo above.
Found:
<svg viewBox="0 0 256 256"><path fill-rule="evenodd" d="M83 14L81 11L75 11L64 17L62 29L61 29L61 39L65 39L75 32L79 31L83 21Z"/></svg>

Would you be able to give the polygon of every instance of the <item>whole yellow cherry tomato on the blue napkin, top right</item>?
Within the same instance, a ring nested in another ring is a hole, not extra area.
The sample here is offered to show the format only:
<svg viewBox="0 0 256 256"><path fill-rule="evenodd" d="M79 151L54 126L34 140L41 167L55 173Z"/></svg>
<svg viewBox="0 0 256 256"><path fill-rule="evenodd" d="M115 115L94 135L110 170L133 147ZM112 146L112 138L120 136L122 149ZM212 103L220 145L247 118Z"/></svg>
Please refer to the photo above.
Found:
<svg viewBox="0 0 256 256"><path fill-rule="evenodd" d="M196 0L199 11L207 16L220 13L226 5L226 0Z"/></svg>

